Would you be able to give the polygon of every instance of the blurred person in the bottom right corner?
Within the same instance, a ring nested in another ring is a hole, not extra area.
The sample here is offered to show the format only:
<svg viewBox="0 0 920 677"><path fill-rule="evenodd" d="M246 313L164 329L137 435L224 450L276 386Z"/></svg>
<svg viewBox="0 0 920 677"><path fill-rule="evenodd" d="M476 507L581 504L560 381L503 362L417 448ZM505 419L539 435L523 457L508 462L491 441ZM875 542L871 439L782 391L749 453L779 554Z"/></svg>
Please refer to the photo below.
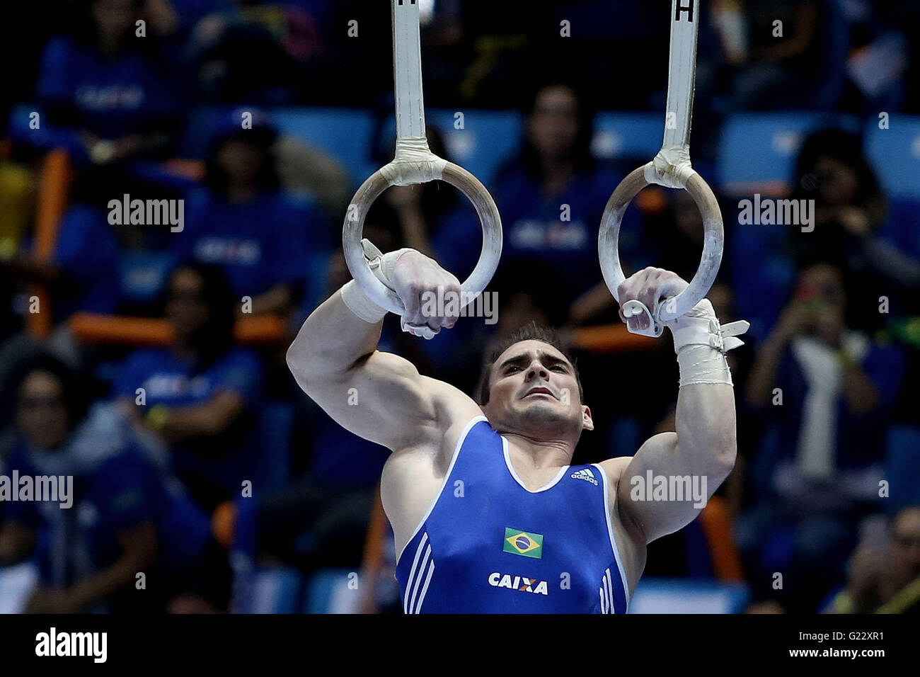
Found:
<svg viewBox="0 0 920 677"><path fill-rule="evenodd" d="M891 521L889 543L863 546L850 562L846 588L834 613L907 613L920 607L920 506Z"/></svg>

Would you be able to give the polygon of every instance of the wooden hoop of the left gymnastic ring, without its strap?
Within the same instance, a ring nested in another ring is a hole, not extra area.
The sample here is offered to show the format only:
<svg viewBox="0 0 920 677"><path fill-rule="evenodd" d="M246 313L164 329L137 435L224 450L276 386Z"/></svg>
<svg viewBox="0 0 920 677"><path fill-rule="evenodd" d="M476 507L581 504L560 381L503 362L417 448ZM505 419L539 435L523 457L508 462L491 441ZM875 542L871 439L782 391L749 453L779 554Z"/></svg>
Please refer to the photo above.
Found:
<svg viewBox="0 0 920 677"><path fill-rule="evenodd" d="M501 256L501 217L499 216L499 208L489 191L466 169L455 165L453 162L447 162L444 165L442 176L435 177L435 179L450 183L466 195L466 199L476 208L479 223L482 225L482 251L479 254L479 261L473 272L466 278L466 282L460 287L462 308L482 293L482 290L489 285L492 275L495 274L495 270L499 266ZM362 183L357 193L354 194L348 213L345 216L345 225L342 228L342 251L345 252L345 263L348 264L351 276L365 296L381 308L401 315L405 310L402 303L396 293L385 286L371 272L361 246L364 217L367 216L367 211L370 209L371 204L374 203L374 200L380 197L391 185L397 185L397 183L387 180L381 169L377 169Z"/></svg>

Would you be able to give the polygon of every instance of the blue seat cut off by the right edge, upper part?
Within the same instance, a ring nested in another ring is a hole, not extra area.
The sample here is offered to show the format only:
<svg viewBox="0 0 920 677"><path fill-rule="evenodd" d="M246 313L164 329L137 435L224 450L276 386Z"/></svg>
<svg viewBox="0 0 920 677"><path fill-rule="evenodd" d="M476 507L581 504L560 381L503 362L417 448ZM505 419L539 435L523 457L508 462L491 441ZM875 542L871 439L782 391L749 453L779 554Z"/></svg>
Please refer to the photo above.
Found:
<svg viewBox="0 0 920 677"><path fill-rule="evenodd" d="M866 128L866 155L887 193L920 198L920 116L893 115L888 129L872 119Z"/></svg>

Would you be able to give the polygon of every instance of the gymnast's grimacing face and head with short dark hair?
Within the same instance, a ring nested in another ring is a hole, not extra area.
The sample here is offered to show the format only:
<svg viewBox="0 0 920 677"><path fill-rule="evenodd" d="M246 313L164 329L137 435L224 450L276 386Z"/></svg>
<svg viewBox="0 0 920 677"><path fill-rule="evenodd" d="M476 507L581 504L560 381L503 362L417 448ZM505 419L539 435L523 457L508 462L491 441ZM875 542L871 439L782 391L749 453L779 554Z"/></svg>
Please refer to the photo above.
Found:
<svg viewBox="0 0 920 677"><path fill-rule="evenodd" d="M492 366L489 403L482 407L496 429L530 436L564 435L593 428L591 410L581 404L575 369L542 341L513 344Z"/></svg>

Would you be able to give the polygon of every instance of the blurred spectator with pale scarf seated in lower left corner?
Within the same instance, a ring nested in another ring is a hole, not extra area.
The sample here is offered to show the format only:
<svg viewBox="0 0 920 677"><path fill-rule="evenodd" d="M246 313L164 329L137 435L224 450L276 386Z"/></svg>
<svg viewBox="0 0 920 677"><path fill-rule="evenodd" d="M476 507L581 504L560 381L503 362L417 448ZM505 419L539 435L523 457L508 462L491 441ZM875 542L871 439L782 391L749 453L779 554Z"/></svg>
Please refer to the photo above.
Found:
<svg viewBox="0 0 920 677"><path fill-rule="evenodd" d="M33 553L34 613L164 611L178 595L199 611L226 608L225 556L207 517L167 480L109 405L86 414L86 382L50 357L17 378L19 476L72 478L66 502L3 504L0 566ZM59 497L61 497L59 495ZM135 588L138 572L145 588Z"/></svg>

